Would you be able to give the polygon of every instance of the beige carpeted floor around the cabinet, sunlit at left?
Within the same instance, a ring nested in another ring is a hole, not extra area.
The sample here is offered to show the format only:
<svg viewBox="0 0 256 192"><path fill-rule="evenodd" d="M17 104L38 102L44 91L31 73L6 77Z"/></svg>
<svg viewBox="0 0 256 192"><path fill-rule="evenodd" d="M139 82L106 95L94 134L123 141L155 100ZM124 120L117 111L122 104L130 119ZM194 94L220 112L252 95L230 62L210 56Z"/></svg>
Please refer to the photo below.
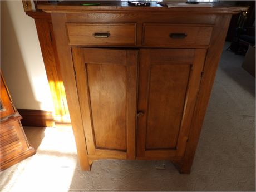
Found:
<svg viewBox="0 0 256 192"><path fill-rule="evenodd" d="M243 59L223 51L190 175L168 161L100 160L81 172L70 127L25 127L37 154L2 171L0 190L255 191L255 79Z"/></svg>

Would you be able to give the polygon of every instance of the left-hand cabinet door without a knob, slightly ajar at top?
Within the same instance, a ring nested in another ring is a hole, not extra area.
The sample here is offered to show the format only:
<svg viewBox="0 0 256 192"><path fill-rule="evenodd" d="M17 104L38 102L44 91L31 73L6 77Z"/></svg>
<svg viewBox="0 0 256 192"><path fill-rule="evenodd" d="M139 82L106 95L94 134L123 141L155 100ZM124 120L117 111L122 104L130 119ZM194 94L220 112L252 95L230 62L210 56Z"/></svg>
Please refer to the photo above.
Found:
<svg viewBox="0 0 256 192"><path fill-rule="evenodd" d="M135 159L137 50L72 48L90 159Z"/></svg>

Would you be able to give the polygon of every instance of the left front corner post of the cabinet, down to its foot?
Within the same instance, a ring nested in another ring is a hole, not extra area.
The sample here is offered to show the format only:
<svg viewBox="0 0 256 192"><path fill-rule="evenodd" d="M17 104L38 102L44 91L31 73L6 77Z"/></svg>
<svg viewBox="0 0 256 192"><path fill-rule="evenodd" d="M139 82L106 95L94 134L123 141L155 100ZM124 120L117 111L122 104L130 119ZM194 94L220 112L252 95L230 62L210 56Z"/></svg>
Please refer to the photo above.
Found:
<svg viewBox="0 0 256 192"><path fill-rule="evenodd" d="M88 162L85 134L81 118L80 105L78 100L75 73L73 68L71 48L68 46L66 27L66 14L52 14L53 31L56 39L58 58L61 65L61 73L65 86L65 92L70 111L70 118L73 133L75 135L77 155L82 170L90 170Z"/></svg>

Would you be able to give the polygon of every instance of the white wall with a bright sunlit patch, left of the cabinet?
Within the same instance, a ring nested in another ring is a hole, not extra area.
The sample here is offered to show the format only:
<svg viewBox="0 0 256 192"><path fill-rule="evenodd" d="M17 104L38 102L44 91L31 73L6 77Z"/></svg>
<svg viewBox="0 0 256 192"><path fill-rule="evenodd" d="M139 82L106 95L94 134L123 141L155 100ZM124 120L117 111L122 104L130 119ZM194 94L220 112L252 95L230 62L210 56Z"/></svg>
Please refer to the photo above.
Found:
<svg viewBox="0 0 256 192"><path fill-rule="evenodd" d="M1 70L19 109L53 111L33 18L22 1L1 1Z"/></svg>

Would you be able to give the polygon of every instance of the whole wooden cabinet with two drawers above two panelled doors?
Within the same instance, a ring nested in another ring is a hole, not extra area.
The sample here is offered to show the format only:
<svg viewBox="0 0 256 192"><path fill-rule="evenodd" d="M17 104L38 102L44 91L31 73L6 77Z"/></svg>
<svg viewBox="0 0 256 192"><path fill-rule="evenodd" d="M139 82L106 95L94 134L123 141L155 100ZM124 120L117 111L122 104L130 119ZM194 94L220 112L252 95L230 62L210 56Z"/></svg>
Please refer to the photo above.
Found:
<svg viewBox="0 0 256 192"><path fill-rule="evenodd" d="M246 7L78 2L51 13L82 170L170 160L190 173L232 14Z"/></svg>

